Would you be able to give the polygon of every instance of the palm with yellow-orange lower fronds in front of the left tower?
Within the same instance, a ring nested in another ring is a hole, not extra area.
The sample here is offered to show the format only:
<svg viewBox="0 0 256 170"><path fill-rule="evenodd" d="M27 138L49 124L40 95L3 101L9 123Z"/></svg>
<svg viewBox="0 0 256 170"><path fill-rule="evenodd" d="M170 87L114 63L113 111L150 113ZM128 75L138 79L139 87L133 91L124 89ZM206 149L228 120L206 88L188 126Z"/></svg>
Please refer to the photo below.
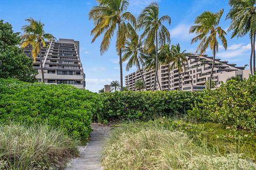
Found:
<svg viewBox="0 0 256 170"><path fill-rule="evenodd" d="M42 72L42 82L44 83L44 70L42 64L42 47L45 47L45 39L51 41L55 39L53 35L46 34L44 31L44 23L41 21L36 21L33 18L26 19L29 25L23 26L22 30L24 35L21 35L22 43L21 48L25 48L28 45L32 45L32 56L34 62L36 61L36 56L39 53L41 72Z"/></svg>

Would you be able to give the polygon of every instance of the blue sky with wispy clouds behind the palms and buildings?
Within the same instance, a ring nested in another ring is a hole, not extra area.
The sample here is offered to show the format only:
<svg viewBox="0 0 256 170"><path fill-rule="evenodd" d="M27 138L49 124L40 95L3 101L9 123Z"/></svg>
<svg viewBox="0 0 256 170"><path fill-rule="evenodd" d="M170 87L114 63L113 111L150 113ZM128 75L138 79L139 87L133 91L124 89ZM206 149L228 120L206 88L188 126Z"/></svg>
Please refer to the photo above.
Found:
<svg viewBox="0 0 256 170"><path fill-rule="evenodd" d="M130 0L128 11L136 17L140 11L150 4L151 0ZM160 15L170 15L171 26L166 27L171 33L171 43L180 43L182 50L195 53L198 44L190 45L191 38L188 30L193 25L197 15L204 11L217 12L224 9L224 14L220 22L223 29L227 29L230 21L225 20L229 11L228 0L158 0ZM92 6L97 5L94 0L1 0L0 19L12 24L14 31L21 32L21 27L26 25L26 18L32 17L45 23L46 33L51 33L57 38L70 38L80 42L80 54L86 74L86 89L98 92L103 85L109 84L112 80L119 80L118 56L115 51L115 38L111 46L103 55L100 55L99 47L102 37L91 44L92 37L90 31L93 22L89 21L88 13ZM250 39L248 36L243 38L230 39L227 36L228 49L223 50L220 46L217 57L244 66L249 63L250 58ZM211 51L207 50L211 55ZM124 76L129 72L125 70Z"/></svg>

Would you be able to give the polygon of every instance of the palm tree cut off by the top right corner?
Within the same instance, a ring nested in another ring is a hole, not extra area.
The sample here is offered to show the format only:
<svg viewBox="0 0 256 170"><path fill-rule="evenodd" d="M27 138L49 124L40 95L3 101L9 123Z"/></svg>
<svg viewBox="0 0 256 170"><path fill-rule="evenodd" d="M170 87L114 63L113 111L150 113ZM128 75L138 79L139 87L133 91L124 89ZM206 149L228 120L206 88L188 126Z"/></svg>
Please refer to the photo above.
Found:
<svg viewBox="0 0 256 170"><path fill-rule="evenodd" d="M243 37L250 34L251 55L250 71L251 75L255 72L255 31L256 31L256 7L255 0L229 0L231 7L227 19L231 19L228 31L233 30L231 38ZM253 66L252 66L253 59Z"/></svg>

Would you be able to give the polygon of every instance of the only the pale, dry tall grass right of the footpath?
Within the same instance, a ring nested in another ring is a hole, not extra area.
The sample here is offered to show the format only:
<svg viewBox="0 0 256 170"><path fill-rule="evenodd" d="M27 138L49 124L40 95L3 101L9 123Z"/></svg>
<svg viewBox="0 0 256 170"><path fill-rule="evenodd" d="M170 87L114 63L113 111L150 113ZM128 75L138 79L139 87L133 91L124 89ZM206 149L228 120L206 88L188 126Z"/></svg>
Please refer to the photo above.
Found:
<svg viewBox="0 0 256 170"><path fill-rule="evenodd" d="M186 133L161 124L122 124L103 150L104 169L256 169L256 164L229 148L222 153L195 142Z"/></svg>

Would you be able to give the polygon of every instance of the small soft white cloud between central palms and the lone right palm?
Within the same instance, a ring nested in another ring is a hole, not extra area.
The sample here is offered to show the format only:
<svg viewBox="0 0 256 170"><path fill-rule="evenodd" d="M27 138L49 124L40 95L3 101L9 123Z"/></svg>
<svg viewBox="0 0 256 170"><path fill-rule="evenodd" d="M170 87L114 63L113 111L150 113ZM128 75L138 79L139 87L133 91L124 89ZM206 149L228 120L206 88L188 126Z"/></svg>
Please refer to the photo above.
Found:
<svg viewBox="0 0 256 170"><path fill-rule="evenodd" d="M195 34L189 34L191 25L186 23L180 23L178 26L170 30L171 38L179 38L185 41L191 41Z"/></svg>

